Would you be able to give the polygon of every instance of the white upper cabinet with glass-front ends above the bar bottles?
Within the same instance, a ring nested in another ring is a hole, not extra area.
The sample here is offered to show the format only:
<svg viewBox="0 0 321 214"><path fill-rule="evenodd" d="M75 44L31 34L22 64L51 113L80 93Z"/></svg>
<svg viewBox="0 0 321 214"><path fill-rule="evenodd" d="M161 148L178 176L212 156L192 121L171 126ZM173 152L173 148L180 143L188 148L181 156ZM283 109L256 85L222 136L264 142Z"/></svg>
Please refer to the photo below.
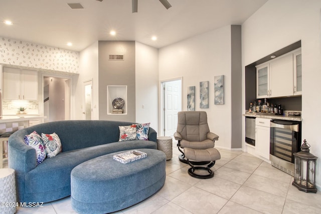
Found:
<svg viewBox="0 0 321 214"><path fill-rule="evenodd" d="M301 49L256 66L256 98L300 95Z"/></svg>

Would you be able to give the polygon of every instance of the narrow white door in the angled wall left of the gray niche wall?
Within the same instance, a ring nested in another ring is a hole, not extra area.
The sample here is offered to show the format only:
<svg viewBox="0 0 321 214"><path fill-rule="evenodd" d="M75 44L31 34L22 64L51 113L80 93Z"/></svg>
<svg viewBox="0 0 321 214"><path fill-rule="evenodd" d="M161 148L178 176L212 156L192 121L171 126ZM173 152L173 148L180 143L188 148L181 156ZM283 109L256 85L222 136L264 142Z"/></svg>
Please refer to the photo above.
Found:
<svg viewBox="0 0 321 214"><path fill-rule="evenodd" d="M85 120L92 120L93 113L92 113L92 103L93 103L93 95L92 95L92 80L85 81L83 83L83 119Z"/></svg>

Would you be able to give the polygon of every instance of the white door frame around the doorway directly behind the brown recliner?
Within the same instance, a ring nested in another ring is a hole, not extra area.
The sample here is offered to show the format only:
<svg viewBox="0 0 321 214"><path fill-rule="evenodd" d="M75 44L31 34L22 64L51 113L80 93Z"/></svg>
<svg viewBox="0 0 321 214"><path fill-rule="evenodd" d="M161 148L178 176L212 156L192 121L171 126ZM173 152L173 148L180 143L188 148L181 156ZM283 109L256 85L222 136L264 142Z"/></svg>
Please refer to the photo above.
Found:
<svg viewBox="0 0 321 214"><path fill-rule="evenodd" d="M181 81L181 110L183 110L183 77L166 79L159 81L159 133L158 136L165 136L165 97L164 97L164 83L172 81Z"/></svg>

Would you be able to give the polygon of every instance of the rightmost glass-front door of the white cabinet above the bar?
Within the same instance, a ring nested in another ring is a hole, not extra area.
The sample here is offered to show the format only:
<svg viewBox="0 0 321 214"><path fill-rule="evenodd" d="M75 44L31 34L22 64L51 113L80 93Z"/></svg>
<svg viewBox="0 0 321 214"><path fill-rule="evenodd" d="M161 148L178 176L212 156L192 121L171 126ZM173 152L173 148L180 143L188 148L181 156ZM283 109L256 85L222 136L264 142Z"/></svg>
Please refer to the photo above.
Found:
<svg viewBox="0 0 321 214"><path fill-rule="evenodd" d="M301 49L293 53L293 92L302 95L302 59Z"/></svg>

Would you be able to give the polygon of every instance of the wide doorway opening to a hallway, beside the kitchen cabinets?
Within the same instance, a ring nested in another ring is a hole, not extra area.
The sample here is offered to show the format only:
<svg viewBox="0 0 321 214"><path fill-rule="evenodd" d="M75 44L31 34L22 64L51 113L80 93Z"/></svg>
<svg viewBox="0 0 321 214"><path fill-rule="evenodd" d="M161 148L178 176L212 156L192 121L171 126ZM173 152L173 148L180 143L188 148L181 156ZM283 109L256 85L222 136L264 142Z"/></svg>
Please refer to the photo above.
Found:
<svg viewBox="0 0 321 214"><path fill-rule="evenodd" d="M43 77L45 122L70 119L71 80L61 77Z"/></svg>

